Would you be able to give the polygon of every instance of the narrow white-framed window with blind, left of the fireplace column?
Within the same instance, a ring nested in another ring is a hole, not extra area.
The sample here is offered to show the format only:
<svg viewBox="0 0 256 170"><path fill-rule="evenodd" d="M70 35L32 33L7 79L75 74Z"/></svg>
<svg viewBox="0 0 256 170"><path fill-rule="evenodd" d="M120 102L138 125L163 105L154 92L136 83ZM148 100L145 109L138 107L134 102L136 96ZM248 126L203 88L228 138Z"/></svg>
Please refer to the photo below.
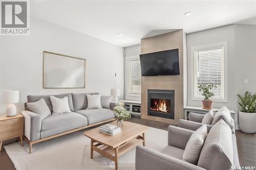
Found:
<svg viewBox="0 0 256 170"><path fill-rule="evenodd" d="M139 56L126 58L126 94L140 96L141 94L141 70Z"/></svg>

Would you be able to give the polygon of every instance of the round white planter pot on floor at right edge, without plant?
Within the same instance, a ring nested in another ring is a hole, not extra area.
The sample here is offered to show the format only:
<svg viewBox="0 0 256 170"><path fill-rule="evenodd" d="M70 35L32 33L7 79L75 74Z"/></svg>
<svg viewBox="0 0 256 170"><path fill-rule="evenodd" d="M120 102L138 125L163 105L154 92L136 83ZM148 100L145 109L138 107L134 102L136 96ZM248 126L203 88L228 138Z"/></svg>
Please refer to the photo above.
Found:
<svg viewBox="0 0 256 170"><path fill-rule="evenodd" d="M256 113L245 113L239 111L239 126L242 132L255 133L256 132Z"/></svg>

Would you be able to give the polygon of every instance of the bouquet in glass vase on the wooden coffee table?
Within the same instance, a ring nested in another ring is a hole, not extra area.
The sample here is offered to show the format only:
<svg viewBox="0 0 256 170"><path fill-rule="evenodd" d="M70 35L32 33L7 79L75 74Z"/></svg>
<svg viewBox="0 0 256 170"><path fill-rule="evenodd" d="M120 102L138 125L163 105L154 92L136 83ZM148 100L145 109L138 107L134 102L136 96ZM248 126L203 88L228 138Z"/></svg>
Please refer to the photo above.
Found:
<svg viewBox="0 0 256 170"><path fill-rule="evenodd" d="M127 111L123 106L114 107L113 111L115 112L115 117L117 119L117 125L123 126L123 120L131 118L130 111Z"/></svg>

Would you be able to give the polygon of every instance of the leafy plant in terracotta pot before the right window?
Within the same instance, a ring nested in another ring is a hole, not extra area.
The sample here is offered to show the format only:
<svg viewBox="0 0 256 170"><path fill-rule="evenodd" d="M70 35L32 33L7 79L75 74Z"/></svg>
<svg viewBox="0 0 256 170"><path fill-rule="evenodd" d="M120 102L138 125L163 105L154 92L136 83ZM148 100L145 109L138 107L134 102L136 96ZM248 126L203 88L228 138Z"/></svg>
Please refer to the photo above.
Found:
<svg viewBox="0 0 256 170"><path fill-rule="evenodd" d="M202 100L203 109L211 109L212 100L210 100L210 98L214 96L214 93L210 92L210 90L213 88L217 87L212 84L201 84L198 86L199 91L202 92L202 95L204 96L204 100Z"/></svg>

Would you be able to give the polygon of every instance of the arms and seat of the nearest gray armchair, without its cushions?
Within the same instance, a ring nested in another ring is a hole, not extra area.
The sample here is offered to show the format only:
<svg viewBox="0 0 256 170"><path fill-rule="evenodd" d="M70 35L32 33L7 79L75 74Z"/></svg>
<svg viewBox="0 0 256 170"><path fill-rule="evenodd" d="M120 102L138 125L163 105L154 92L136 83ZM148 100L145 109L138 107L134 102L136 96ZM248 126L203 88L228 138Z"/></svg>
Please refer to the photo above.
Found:
<svg viewBox="0 0 256 170"><path fill-rule="evenodd" d="M135 169L136 170L203 170L204 168L185 162L182 155L186 143L194 131L169 126L168 145L162 152L157 152L142 146L136 148ZM205 169L204 169L205 170Z"/></svg>

